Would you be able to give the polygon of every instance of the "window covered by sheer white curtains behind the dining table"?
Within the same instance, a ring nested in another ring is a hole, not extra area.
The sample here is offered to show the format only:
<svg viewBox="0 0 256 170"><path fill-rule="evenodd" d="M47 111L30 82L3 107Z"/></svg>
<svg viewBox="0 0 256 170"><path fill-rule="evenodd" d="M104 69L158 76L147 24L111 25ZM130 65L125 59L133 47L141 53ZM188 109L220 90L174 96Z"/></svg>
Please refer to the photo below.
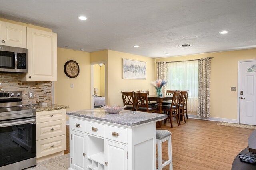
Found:
<svg viewBox="0 0 256 170"><path fill-rule="evenodd" d="M188 111L198 110L198 60L167 63L167 89L188 90Z"/></svg>

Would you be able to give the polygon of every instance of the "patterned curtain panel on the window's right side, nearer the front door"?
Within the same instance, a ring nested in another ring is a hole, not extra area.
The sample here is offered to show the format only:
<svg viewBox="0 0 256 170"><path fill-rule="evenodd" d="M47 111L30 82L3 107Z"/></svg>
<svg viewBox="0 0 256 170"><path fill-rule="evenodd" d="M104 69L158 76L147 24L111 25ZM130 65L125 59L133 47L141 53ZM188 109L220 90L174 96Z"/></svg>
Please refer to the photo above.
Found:
<svg viewBox="0 0 256 170"><path fill-rule="evenodd" d="M197 116L210 117L210 73L210 58L199 59Z"/></svg>

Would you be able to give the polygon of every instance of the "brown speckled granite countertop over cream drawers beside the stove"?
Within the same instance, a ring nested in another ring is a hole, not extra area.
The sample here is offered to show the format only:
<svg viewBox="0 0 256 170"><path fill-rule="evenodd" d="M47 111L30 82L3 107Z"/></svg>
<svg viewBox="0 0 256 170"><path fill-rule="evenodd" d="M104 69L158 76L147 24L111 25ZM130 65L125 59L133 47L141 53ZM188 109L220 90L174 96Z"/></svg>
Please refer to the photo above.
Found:
<svg viewBox="0 0 256 170"><path fill-rule="evenodd" d="M69 106L63 106L63 105L39 105L39 104L30 104L30 105L24 105L25 107L28 108L33 108L36 109L36 112L41 112L41 111L53 111L53 110L60 110L60 109L67 109Z"/></svg>

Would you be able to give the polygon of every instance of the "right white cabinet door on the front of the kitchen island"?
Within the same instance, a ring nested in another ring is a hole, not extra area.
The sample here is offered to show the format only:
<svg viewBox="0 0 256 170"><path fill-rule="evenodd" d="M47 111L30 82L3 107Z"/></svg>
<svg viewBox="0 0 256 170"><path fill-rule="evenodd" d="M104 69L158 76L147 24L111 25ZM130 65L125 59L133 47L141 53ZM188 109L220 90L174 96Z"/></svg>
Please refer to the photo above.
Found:
<svg viewBox="0 0 256 170"><path fill-rule="evenodd" d="M127 170L127 146L106 140L106 169Z"/></svg>

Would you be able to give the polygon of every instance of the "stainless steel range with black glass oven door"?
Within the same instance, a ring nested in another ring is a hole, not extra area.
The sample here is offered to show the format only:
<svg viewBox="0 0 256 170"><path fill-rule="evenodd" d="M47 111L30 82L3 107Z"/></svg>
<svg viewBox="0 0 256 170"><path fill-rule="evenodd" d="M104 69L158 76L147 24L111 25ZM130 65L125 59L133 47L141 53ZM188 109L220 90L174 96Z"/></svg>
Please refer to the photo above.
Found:
<svg viewBox="0 0 256 170"><path fill-rule="evenodd" d="M0 92L0 169L36 165L36 111L22 107L22 92Z"/></svg>

